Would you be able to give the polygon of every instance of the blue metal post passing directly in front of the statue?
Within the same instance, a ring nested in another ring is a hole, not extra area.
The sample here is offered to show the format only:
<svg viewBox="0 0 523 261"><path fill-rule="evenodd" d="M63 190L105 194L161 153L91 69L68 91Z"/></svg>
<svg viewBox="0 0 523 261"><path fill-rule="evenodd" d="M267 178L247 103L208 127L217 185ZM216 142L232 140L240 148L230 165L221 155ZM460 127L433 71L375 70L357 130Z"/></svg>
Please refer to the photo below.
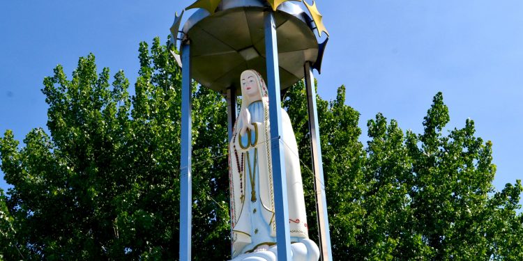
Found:
<svg viewBox="0 0 523 261"><path fill-rule="evenodd" d="M278 65L278 40L272 11L265 13L265 48L267 59L267 88L269 116L271 118L271 159L273 163L274 200L276 216L276 241L278 260L291 259L291 237L289 232L289 207L287 203L287 177L285 159L280 143L282 134L282 111L280 100L280 71Z"/></svg>

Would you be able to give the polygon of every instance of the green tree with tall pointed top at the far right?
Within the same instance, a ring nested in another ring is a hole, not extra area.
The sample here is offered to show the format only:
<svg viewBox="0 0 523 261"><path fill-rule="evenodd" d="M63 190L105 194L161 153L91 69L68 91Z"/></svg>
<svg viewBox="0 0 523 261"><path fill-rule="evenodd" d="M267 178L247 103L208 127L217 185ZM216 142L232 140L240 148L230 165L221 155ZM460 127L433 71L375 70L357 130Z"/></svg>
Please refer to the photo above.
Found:
<svg viewBox="0 0 523 261"><path fill-rule="evenodd" d="M499 256L520 260L523 248L500 253L506 247L504 236L517 236L509 226L492 229L496 219L508 223L521 219L515 215L520 208L520 180L494 196L492 143L474 136L474 122L467 120L462 129L453 129L448 136L442 129L450 120L441 93L434 97L423 122L425 132L407 133L407 147L412 161L412 186L409 191L414 209L416 230L430 247L433 260L489 260ZM420 143L420 145L418 145ZM521 223L520 223L521 226ZM506 230L506 232L503 232ZM501 237L500 237L501 236Z"/></svg>

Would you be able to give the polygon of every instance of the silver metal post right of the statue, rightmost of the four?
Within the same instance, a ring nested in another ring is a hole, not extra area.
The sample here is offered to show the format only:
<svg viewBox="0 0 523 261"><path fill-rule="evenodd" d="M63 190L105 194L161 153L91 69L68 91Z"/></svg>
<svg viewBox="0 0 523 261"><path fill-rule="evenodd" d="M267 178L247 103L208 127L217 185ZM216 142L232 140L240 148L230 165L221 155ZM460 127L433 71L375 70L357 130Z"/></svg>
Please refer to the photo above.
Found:
<svg viewBox="0 0 523 261"><path fill-rule="evenodd" d="M321 145L319 141L318 111L316 106L316 90L314 74L310 63L305 63L305 88L307 88L307 103L309 109L310 150L312 168L314 171L314 191L316 191L316 212L318 218L318 234L320 257L323 261L333 260L331 251L331 235L328 229L327 201L325 196L324 167L321 161Z"/></svg>

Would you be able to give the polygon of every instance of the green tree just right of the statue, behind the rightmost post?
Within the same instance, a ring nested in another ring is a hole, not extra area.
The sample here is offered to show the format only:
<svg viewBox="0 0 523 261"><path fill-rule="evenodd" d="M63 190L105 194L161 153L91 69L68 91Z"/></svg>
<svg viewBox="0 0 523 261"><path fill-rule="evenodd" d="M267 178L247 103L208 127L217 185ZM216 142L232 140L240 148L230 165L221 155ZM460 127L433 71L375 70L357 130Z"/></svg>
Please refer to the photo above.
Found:
<svg viewBox="0 0 523 261"><path fill-rule="evenodd" d="M365 152L363 144L358 141L361 135L361 129L358 127L359 113L344 102L344 86L338 88L338 96L332 102L317 96L331 244L338 253L351 253L349 248L356 244L356 235L365 212L360 200L366 186L361 172ZM296 84L286 93L282 105L289 112L298 142L305 205L308 209L309 236L318 242L314 176L310 170L312 159L307 94L303 83ZM341 256L334 254L333 258L339 260Z"/></svg>

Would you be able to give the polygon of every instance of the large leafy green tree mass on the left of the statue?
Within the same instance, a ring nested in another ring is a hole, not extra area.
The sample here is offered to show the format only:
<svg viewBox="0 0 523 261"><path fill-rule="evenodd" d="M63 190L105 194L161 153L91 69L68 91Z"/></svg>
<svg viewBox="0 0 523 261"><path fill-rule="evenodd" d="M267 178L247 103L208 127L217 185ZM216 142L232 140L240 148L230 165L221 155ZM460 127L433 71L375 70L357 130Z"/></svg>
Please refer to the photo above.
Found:
<svg viewBox="0 0 523 261"><path fill-rule="evenodd" d="M169 56L158 38L150 50L140 44L132 97L123 72L111 84L92 54L73 79L57 66L43 88L50 135L33 129L22 148L10 131L0 140L13 184L1 202L18 228L8 239L29 248L26 258L178 257L181 76ZM194 246L202 259L220 260L229 248L225 102L206 88L193 98Z"/></svg>

